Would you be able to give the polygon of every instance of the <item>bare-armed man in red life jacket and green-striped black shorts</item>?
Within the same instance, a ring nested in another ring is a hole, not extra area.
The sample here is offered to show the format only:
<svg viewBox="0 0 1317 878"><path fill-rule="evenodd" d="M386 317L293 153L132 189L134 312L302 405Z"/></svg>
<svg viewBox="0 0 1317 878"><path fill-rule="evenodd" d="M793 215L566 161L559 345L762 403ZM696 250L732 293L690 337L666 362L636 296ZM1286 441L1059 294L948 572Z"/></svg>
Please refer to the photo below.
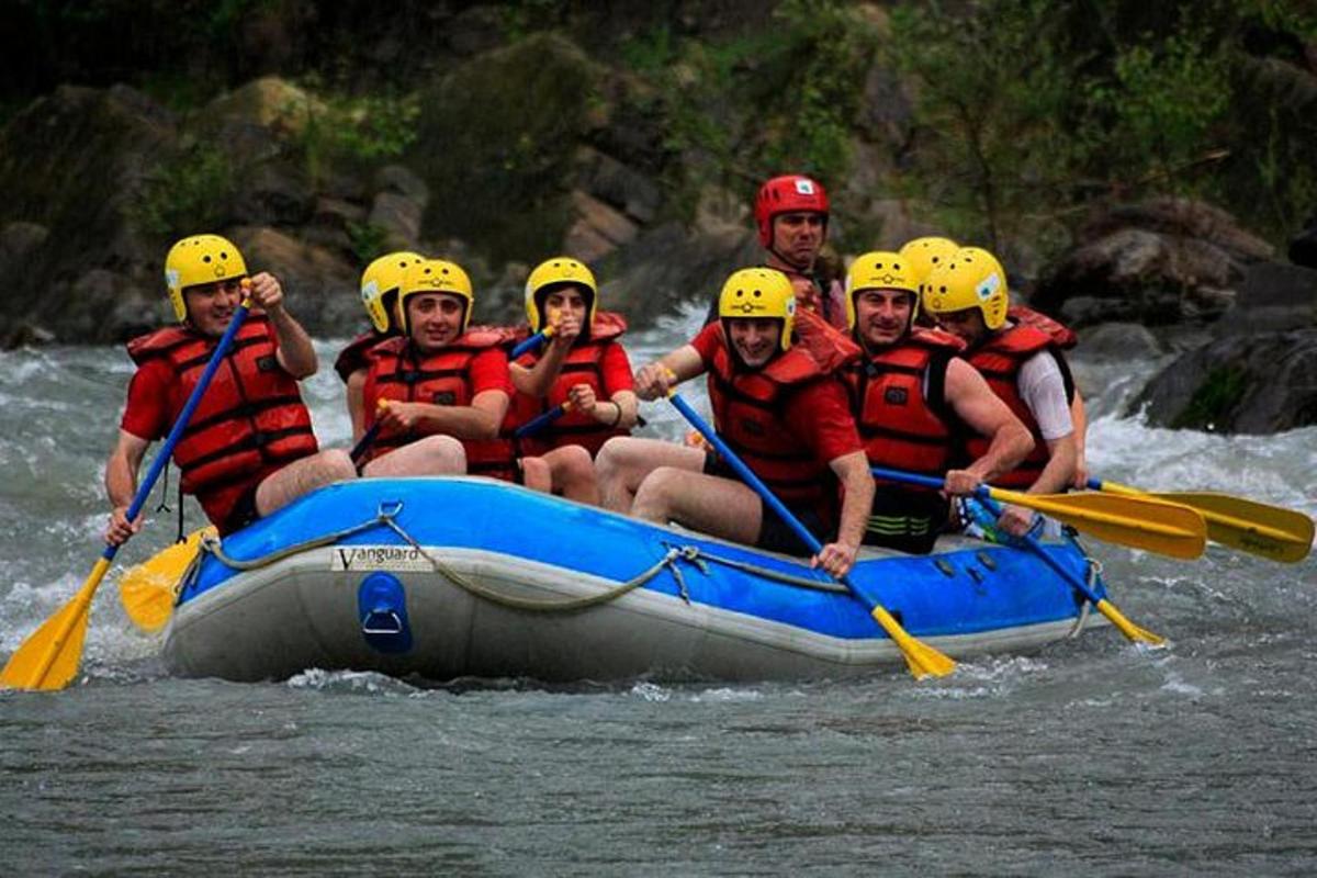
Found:
<svg viewBox="0 0 1317 878"><path fill-rule="evenodd" d="M946 494L880 482L864 541L926 554L947 523L947 494L968 494L1019 463L1025 425L956 354L964 345L914 325L919 286L897 253L865 253L846 279L847 321L864 358L846 370L869 463L946 480ZM986 437L981 457L951 469L963 437Z"/></svg>

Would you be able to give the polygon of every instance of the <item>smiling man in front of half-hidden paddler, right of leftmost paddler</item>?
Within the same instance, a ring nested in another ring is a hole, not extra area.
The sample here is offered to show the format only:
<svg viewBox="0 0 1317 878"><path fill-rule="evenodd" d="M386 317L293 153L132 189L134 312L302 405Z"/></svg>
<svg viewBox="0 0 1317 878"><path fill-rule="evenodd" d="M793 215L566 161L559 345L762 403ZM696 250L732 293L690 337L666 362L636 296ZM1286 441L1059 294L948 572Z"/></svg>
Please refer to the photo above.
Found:
<svg viewBox="0 0 1317 878"><path fill-rule="evenodd" d="M547 467L523 470L504 430L507 336L470 328L474 307L470 278L453 262L424 259L404 272L402 334L370 350L362 398L367 429L378 420L381 430L362 475L470 473L547 490Z"/></svg>

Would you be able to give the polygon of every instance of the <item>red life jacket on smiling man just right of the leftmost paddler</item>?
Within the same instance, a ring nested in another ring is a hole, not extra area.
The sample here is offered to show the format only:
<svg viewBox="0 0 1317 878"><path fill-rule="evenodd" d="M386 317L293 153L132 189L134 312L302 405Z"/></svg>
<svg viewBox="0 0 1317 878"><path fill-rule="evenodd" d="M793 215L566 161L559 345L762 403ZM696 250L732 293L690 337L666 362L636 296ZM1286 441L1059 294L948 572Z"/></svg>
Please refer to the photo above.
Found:
<svg viewBox="0 0 1317 878"><path fill-rule="evenodd" d="M375 421L375 405L381 399L404 403L431 403L433 405L470 405L471 361L490 348L506 341L506 333L475 328L456 338L453 344L421 357L407 337L395 337L370 349L370 373L362 398L366 404L366 428ZM504 426L507 419L503 421ZM369 459L402 448L420 438L415 432L386 433L375 440ZM466 471L471 475L490 475L507 482L516 480L516 462L512 444L503 436L495 440L461 440L466 449Z"/></svg>

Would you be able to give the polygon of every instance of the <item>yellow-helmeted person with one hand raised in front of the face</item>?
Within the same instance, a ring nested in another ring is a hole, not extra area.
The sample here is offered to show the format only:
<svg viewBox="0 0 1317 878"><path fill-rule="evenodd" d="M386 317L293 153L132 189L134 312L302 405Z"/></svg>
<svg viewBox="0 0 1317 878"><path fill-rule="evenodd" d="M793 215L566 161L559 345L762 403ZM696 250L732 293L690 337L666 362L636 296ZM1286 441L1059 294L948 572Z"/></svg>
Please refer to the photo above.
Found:
<svg viewBox="0 0 1317 878"><path fill-rule="evenodd" d="M545 259L525 282L525 317L532 333L553 315L553 334L539 350L511 365L516 420L525 423L554 407L566 412L522 449L548 465L553 490L598 504L593 458L614 436L630 436L637 400L631 362L619 338L627 330L620 315L598 311L594 274L570 257Z"/></svg>

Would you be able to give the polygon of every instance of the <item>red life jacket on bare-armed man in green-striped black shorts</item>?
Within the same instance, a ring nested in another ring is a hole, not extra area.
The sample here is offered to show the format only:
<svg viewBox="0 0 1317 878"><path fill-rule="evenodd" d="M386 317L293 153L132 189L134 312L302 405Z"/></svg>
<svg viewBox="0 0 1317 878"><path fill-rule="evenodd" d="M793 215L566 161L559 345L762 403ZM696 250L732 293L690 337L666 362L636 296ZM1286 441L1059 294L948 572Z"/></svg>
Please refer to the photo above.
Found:
<svg viewBox="0 0 1317 878"><path fill-rule="evenodd" d="M963 432L946 403L947 363L963 349L955 336L917 328L846 371L869 463L946 475Z"/></svg>

